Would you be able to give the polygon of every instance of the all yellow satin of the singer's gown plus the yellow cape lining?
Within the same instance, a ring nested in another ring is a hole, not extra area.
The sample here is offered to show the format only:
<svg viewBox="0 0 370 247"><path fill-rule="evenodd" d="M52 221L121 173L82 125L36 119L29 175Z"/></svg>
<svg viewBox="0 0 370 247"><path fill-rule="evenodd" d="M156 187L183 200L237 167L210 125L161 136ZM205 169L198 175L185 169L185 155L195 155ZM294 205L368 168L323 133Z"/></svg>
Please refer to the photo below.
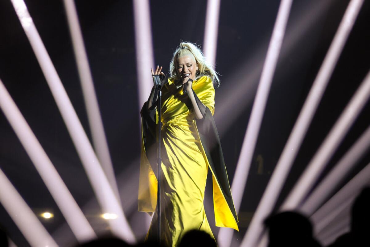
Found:
<svg viewBox="0 0 370 247"><path fill-rule="evenodd" d="M211 79L202 76L194 80L193 90L213 114L215 90ZM177 88L172 79L169 79L162 89L161 117L161 239L168 246L176 246L182 234L192 229L203 230L213 236L203 206L209 163L191 109L191 103L188 96L183 94L182 87ZM152 165L155 168L155 164ZM138 206L139 211L148 213L154 212L157 204L157 178L153 168L142 144ZM211 172L213 174L212 169ZM213 203L216 226L238 230L236 220L214 176ZM147 238L155 238L156 217L153 217Z"/></svg>

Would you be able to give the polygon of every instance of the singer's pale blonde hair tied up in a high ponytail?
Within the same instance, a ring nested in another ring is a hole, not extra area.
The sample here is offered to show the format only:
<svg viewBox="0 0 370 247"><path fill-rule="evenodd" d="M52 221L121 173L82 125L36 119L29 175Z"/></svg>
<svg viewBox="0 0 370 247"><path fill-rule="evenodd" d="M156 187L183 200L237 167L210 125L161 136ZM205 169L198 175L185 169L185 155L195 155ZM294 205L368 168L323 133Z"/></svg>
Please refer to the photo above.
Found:
<svg viewBox="0 0 370 247"><path fill-rule="evenodd" d="M211 78L213 84L216 87L220 86L220 80L218 79L217 72L213 69L213 66L209 64L201 51L201 47L195 43L181 42L180 46L177 47L174 56L172 57L171 63L169 63L169 74L175 80L180 80L180 76L176 69L176 60L180 57L192 55L197 63L198 70L196 71L195 79L199 79L201 76L208 76Z"/></svg>

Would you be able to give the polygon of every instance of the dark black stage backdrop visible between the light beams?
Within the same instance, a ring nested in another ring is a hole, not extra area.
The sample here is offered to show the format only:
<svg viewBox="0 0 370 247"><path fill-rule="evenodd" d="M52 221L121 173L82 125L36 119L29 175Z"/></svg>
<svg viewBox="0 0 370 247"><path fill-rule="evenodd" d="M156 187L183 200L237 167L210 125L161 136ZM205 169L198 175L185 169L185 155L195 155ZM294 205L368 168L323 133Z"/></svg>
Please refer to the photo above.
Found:
<svg viewBox="0 0 370 247"><path fill-rule="evenodd" d="M134 233L142 239L147 231L143 222L147 219L144 213L137 212L136 201L140 120L132 1L77 0L75 3L121 201ZM230 181L238 162L279 3L270 0L221 1L216 71L221 74L222 84L216 90L215 121ZM348 3L345 0L293 1L240 207L240 231L234 234L234 245L245 234ZM63 2L26 0L26 5L91 140ZM150 8L156 64L163 64L167 70L172 53L181 40L203 45L205 0L151 1ZM369 1L364 1L276 207L289 193L369 70L369 8ZM8 0L0 2L0 23L0 79L94 230L104 234L108 225L99 217L101 211L81 161ZM367 103L324 174L369 123L370 104ZM369 161L368 152L348 174L346 181ZM0 168L35 213L43 210L54 213L53 219L40 220L57 243L61 246L74 244L73 233L2 112ZM205 206L216 235L219 229L214 226L210 188L208 183ZM28 246L2 206L0 224L17 246Z"/></svg>

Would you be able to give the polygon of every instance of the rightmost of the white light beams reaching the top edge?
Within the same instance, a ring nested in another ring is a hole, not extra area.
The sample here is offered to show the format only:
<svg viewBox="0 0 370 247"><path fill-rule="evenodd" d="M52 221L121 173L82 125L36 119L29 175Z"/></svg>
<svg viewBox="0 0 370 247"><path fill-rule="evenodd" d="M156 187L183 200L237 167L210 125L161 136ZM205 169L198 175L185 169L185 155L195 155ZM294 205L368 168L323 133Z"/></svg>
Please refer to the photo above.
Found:
<svg viewBox="0 0 370 247"><path fill-rule="evenodd" d="M280 155L279 161L276 164L272 177L269 180L266 190L263 193L257 210L248 227L246 236L244 237L245 239L248 239L248 236L251 236L251 238L255 238L255 241L258 241L257 239L260 238L263 232L262 222L266 217L268 217L275 206L276 200L280 194L290 168L292 167L293 161L296 158L303 138L307 133L309 124L312 121L324 90L326 89L327 83L329 82L339 55L344 47L353 23L356 20L361 4L361 0L352 0L347 7L346 13L344 14L344 17L334 36L333 42L329 47L323 64L320 67L319 73L313 82L313 86L307 96L302 110L300 111L293 130L290 133L282 154Z"/></svg>

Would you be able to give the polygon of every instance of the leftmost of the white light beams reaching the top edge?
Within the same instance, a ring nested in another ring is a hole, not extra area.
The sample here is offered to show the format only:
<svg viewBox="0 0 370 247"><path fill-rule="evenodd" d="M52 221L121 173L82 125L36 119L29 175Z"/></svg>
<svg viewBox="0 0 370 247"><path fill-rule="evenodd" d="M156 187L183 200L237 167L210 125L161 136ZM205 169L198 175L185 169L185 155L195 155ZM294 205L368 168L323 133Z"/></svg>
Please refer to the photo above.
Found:
<svg viewBox="0 0 370 247"><path fill-rule="evenodd" d="M57 103L58 109L67 126L68 132L80 156L84 169L90 180L92 188L97 196L98 202L104 212L115 213L118 218L110 220L111 231L129 243L135 243L135 236L123 213L120 202L102 170L100 162L86 136L86 133L77 117L72 103L63 87L62 82L51 62L46 48L38 34L36 27L28 13L23 0L11 0L14 9L21 21L23 29L30 41L31 47L36 55L41 70L44 73L51 93Z"/></svg>

